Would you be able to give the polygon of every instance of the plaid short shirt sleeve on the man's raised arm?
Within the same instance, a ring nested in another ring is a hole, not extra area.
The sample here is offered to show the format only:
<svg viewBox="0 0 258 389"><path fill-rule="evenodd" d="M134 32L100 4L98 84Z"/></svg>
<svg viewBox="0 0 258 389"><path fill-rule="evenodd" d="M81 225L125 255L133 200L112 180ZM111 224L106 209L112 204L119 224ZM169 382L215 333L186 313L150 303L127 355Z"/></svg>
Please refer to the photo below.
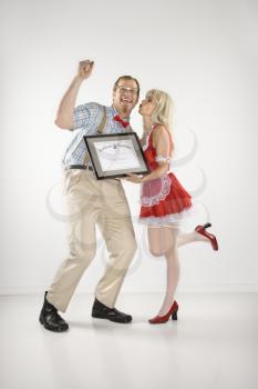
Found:
<svg viewBox="0 0 258 389"><path fill-rule="evenodd" d="M76 130L91 124L95 120L100 107L96 102L87 102L75 107L73 110L73 129Z"/></svg>

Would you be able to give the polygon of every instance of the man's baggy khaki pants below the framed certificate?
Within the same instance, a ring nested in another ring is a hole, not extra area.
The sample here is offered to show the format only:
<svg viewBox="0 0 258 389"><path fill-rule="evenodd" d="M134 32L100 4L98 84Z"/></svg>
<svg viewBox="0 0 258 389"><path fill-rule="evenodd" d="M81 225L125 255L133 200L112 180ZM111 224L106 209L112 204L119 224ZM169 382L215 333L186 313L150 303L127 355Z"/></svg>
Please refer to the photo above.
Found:
<svg viewBox="0 0 258 389"><path fill-rule="evenodd" d="M96 180L90 170L65 171L70 219L69 257L49 289L48 300L64 312L74 290L96 252L97 225L110 253L106 270L96 286L96 299L113 308L136 251L130 208L120 180Z"/></svg>

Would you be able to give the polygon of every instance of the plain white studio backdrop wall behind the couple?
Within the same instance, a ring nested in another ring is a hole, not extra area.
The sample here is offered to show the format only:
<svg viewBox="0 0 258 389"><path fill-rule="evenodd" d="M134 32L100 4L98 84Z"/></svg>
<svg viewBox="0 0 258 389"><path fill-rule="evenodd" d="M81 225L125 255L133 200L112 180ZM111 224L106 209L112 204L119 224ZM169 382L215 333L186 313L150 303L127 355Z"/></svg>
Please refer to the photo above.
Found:
<svg viewBox="0 0 258 389"><path fill-rule="evenodd" d="M164 89L176 107L174 172L219 251L179 249L179 290L258 290L256 1L1 1L1 293L42 292L68 253L61 159L73 133L54 126L82 59L95 61L78 103L112 103L121 74L138 78L141 99ZM141 134L137 108L132 113ZM159 291L164 261L151 257L137 223L140 187L124 183L138 252L123 291ZM104 242L78 291L104 271Z"/></svg>

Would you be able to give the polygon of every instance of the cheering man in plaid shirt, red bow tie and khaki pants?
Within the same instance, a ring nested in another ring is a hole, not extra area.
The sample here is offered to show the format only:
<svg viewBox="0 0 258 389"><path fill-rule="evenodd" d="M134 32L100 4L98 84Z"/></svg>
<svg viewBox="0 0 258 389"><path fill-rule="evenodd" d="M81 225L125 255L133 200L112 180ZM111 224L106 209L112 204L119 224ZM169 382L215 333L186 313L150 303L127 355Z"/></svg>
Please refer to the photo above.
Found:
<svg viewBox="0 0 258 389"><path fill-rule="evenodd" d="M51 331L65 331L69 325L58 311L65 312L73 292L95 257L97 225L110 260L95 289L92 317L126 323L132 316L114 308L128 266L136 251L130 208L121 180L96 180L83 136L131 131L128 118L138 101L140 86L131 76L122 76L113 88L113 104L90 102L75 106L79 89L93 69L93 61L81 61L78 74L61 100L55 124L78 130L63 158L65 190L70 215L69 257L61 265L49 290L40 322Z"/></svg>

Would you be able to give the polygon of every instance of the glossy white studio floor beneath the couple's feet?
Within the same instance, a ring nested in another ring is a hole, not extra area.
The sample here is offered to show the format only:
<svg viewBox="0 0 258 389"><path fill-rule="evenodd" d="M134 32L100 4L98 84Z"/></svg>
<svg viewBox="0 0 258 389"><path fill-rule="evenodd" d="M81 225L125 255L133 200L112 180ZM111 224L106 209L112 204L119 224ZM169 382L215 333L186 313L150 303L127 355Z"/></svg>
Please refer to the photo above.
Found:
<svg viewBox="0 0 258 389"><path fill-rule="evenodd" d="M76 295L65 333L38 321L42 296L0 297L1 389L258 388L258 293L178 293L178 320L152 326L159 295L123 295L133 323L91 318Z"/></svg>

